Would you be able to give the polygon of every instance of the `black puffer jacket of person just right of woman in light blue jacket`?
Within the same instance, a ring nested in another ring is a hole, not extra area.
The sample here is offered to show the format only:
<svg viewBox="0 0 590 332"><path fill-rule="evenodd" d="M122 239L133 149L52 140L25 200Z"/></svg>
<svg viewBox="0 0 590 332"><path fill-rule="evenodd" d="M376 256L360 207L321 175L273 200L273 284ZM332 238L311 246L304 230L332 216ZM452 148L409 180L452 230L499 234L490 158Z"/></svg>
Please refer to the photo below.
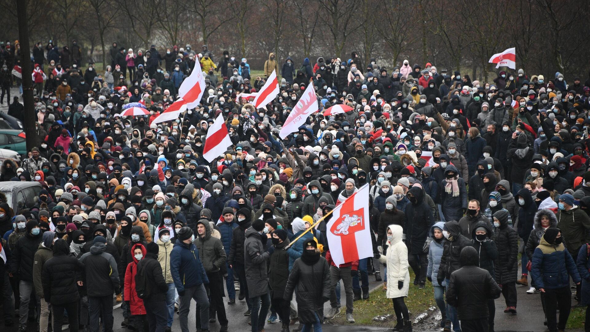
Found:
<svg viewBox="0 0 590 332"><path fill-rule="evenodd" d="M442 258L437 275L438 284L441 284L443 279L450 278L451 274L461 267L461 249L471 246L471 240L461 235L458 222L454 220L446 222L443 230L450 234L452 240L445 239L442 242Z"/></svg>

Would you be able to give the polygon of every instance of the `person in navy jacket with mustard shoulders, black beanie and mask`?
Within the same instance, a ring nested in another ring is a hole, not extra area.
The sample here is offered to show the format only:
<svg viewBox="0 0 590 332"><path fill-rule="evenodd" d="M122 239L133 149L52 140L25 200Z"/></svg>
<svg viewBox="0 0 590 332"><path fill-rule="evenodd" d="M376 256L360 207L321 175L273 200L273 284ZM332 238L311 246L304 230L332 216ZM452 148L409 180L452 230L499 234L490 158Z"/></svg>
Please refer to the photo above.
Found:
<svg viewBox="0 0 590 332"><path fill-rule="evenodd" d="M569 248L568 248L569 249ZM581 266L585 263L581 262ZM576 261L563 245L562 230L549 227L541 237L539 246L533 252L530 272L535 284L544 295L545 315L549 331L565 331L571 310L569 278L580 284ZM559 310L559 321L556 311Z"/></svg>

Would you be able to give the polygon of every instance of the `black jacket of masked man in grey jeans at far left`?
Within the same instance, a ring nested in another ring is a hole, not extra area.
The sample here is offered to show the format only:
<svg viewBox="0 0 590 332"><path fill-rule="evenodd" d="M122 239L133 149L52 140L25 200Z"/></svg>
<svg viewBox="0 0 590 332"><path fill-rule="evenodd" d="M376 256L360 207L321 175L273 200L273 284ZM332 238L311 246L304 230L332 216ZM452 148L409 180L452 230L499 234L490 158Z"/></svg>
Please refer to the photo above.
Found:
<svg viewBox="0 0 590 332"><path fill-rule="evenodd" d="M39 248L39 243L42 242L43 236L41 233L34 236L31 235L29 227L31 222L27 223L27 234L18 239L17 244L12 251L12 259L10 264L10 271L12 274L18 274L22 281L33 282L33 262L35 260L35 252Z"/></svg>

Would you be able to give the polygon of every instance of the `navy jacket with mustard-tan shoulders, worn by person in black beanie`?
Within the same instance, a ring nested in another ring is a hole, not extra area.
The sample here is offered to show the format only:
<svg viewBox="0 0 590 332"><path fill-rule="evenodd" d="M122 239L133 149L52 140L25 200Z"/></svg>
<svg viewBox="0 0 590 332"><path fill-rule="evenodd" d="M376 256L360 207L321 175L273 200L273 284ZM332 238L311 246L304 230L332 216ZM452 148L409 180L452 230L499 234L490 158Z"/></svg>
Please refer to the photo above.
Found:
<svg viewBox="0 0 590 332"><path fill-rule="evenodd" d="M541 237L539 246L533 253L530 274L535 280L537 288L569 288L569 276L572 276L573 282L580 281L580 275L572 255L568 250L565 250L563 244L549 244L545 240L545 235Z"/></svg>

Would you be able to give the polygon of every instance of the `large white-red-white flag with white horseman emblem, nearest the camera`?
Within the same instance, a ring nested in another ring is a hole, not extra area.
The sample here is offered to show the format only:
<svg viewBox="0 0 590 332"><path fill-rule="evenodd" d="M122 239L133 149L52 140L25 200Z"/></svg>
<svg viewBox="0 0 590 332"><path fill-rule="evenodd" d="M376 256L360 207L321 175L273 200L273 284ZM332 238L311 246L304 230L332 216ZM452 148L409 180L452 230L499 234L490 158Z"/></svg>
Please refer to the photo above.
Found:
<svg viewBox="0 0 590 332"><path fill-rule="evenodd" d="M369 184L335 207L326 224L332 261L339 266L373 256L369 228Z"/></svg>

